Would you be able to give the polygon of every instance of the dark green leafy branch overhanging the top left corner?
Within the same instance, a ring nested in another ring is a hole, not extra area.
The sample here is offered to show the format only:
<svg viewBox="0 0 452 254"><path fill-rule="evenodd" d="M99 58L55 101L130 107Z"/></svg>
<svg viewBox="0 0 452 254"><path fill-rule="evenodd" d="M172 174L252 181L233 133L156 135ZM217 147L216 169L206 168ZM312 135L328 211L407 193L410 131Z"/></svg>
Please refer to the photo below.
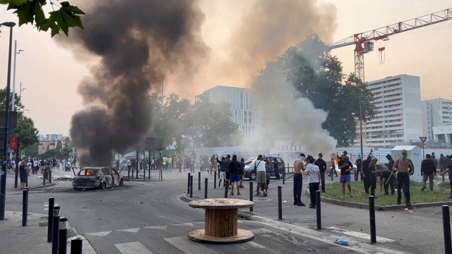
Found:
<svg viewBox="0 0 452 254"><path fill-rule="evenodd" d="M0 4L8 4L8 10L15 10L19 18L19 26L27 23L35 24L37 30L51 30L52 37L59 35L62 31L66 36L69 28L83 29L81 16L85 13L77 6L72 6L69 1L62 1L57 4L49 1L53 11L46 18L42 6L47 5L47 0L0 0Z"/></svg>

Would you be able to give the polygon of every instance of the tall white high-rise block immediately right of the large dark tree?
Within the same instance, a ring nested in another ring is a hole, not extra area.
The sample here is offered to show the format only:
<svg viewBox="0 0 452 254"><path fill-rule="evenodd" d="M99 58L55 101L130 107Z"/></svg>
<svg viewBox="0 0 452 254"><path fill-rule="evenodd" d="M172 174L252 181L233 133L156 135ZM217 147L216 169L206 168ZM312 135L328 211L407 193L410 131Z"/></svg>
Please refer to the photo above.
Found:
<svg viewBox="0 0 452 254"><path fill-rule="evenodd" d="M366 123L368 146L396 146L422 136L420 78L396 75L367 83L376 115Z"/></svg>

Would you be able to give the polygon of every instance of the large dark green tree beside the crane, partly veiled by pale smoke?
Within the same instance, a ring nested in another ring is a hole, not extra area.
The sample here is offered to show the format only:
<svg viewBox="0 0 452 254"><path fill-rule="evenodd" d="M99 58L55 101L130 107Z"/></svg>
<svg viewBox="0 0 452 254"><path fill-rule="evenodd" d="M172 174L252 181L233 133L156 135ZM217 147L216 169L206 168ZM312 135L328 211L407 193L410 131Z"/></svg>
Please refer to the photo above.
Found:
<svg viewBox="0 0 452 254"><path fill-rule="evenodd" d="M368 121L375 114L371 103L374 98L366 85L354 74L344 75L342 63L331 56L326 44L316 35L308 37L297 47L290 47L277 61L268 63L254 85L274 89L264 84L274 73L279 73L292 83L302 97L311 100L316 109L328 112L323 128L338 140L340 146L352 145L356 138L359 98L363 120ZM278 123L275 119L273 121ZM280 121L280 124L285 123ZM283 126L280 128L283 129Z"/></svg>

